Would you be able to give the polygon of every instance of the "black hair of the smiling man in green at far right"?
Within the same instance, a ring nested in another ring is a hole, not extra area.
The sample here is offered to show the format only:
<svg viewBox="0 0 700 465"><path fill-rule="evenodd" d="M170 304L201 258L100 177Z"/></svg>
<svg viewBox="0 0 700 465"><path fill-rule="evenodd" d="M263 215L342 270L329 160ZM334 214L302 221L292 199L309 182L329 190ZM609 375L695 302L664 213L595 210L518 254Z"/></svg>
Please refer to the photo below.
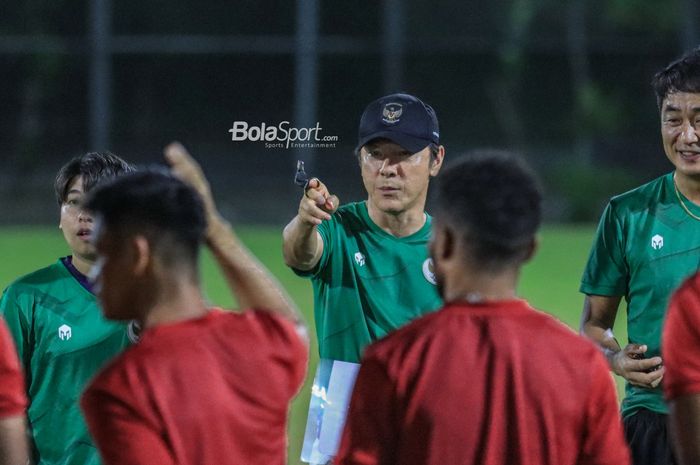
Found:
<svg viewBox="0 0 700 465"><path fill-rule="evenodd" d="M674 92L700 94L700 47L656 73L651 86L654 88L659 109L664 99Z"/></svg>

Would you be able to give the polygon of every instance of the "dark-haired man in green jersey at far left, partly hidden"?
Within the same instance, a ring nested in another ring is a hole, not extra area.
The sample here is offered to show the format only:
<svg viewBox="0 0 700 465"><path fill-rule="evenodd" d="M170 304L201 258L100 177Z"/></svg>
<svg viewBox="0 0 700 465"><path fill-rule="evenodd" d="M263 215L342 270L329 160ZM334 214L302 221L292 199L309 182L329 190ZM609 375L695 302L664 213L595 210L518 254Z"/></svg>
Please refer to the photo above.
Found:
<svg viewBox="0 0 700 465"><path fill-rule="evenodd" d="M19 278L0 300L27 378L35 463L99 464L78 400L106 361L129 344L129 331L104 319L86 275L95 262L93 222L82 209L98 182L132 171L111 153L88 153L64 165L55 190L59 228L71 250L53 265Z"/></svg>

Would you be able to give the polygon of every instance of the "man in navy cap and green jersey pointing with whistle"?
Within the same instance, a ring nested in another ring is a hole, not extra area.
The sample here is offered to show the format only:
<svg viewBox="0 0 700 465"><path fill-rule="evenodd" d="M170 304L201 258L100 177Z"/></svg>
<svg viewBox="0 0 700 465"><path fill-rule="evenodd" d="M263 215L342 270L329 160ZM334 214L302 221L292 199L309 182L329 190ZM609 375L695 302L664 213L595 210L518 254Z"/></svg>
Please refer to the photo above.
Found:
<svg viewBox="0 0 700 465"><path fill-rule="evenodd" d="M424 211L445 156L435 112L407 94L375 100L356 155L367 200L338 208L312 179L283 245L287 265L312 280L321 358L355 363L367 344L441 305Z"/></svg>

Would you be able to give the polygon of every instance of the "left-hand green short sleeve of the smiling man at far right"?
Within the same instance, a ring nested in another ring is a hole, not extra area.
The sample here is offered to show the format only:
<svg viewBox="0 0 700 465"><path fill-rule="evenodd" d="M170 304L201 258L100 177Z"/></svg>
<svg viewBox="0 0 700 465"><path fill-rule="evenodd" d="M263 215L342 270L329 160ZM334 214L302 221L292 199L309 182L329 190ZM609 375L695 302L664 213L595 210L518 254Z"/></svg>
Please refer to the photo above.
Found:
<svg viewBox="0 0 700 465"><path fill-rule="evenodd" d="M581 278L584 294L622 296L627 293L624 231L611 202L605 208Z"/></svg>

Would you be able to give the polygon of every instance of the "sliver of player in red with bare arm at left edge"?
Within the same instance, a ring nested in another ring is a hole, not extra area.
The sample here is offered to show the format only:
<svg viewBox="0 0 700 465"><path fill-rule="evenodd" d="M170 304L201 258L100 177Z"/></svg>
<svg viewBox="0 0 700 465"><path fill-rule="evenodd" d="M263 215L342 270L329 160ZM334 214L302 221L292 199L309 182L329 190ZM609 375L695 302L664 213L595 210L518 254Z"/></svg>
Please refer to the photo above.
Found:
<svg viewBox="0 0 700 465"><path fill-rule="evenodd" d="M24 375L15 344L0 318L0 465L26 465L29 461Z"/></svg>

